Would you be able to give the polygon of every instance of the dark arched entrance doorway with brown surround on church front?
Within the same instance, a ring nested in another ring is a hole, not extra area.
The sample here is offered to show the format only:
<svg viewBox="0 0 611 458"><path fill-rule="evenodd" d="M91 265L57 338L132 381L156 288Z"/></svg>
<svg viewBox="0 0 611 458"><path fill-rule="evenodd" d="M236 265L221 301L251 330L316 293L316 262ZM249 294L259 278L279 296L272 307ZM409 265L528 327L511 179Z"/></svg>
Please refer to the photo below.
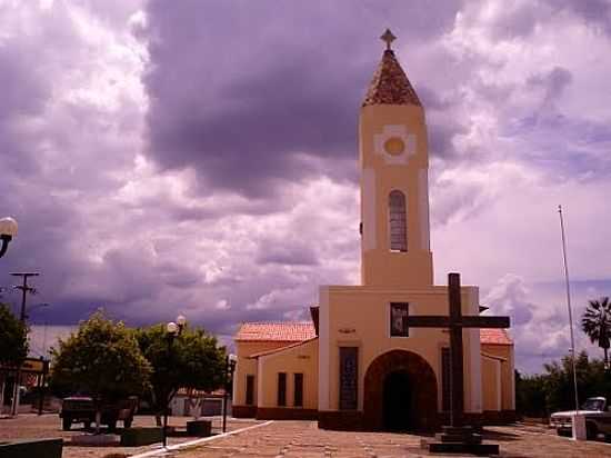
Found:
<svg viewBox="0 0 611 458"><path fill-rule="evenodd" d="M364 424L371 430L432 430L437 426L437 379L419 355L388 351L364 377Z"/></svg>

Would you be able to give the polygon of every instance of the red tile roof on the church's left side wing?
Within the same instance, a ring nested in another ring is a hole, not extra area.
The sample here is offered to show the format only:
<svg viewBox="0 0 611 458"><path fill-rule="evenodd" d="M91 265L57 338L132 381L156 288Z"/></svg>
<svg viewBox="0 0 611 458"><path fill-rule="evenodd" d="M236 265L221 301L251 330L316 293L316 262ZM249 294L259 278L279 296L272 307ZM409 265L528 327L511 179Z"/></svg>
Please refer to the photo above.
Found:
<svg viewBox="0 0 611 458"><path fill-rule="evenodd" d="M234 340L300 342L317 337L312 321L244 322Z"/></svg>

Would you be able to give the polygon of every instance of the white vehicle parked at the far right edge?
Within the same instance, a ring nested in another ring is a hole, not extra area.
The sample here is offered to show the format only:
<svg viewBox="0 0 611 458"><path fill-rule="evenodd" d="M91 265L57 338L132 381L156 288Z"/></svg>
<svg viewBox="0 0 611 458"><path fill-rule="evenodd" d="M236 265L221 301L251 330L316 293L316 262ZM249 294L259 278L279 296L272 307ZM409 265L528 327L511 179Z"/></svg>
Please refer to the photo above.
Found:
<svg viewBox="0 0 611 458"><path fill-rule="evenodd" d="M611 439L611 408L607 407L605 398L588 398L581 406L579 414L585 417L585 436L588 439L595 439L599 432ZM575 415L574 410L552 414L550 426L555 428L559 436L570 435L573 415Z"/></svg>

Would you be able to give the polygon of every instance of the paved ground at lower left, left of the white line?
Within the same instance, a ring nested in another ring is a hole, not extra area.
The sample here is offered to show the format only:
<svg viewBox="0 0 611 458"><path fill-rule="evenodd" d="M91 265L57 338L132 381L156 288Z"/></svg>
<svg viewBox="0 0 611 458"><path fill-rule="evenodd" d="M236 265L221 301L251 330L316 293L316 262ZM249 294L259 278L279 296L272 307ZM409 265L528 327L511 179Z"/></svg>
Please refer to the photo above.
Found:
<svg viewBox="0 0 611 458"><path fill-rule="evenodd" d="M177 427L186 427L187 420L190 417L171 417L169 425ZM211 417L212 419L212 432L221 432L221 418ZM251 425L256 425L254 420L240 420L229 419L228 430L234 430L244 428ZM119 422L121 425L121 422ZM133 419L133 426L154 426L154 418L152 416L136 416ZM62 437L64 441L70 440L72 436L82 435L82 426L74 424L70 431L61 430L61 421L57 414L46 414L38 416L36 414L22 414L18 418L0 419L0 441L7 439L27 439L27 438L46 438L46 437ZM120 428L118 428L120 429ZM170 445L193 440L193 437L170 437L168 442ZM143 451L159 448L158 445L147 447L74 447L64 445L62 458L103 458L110 454L124 454L126 456L136 455ZM33 457L32 457L33 458Z"/></svg>

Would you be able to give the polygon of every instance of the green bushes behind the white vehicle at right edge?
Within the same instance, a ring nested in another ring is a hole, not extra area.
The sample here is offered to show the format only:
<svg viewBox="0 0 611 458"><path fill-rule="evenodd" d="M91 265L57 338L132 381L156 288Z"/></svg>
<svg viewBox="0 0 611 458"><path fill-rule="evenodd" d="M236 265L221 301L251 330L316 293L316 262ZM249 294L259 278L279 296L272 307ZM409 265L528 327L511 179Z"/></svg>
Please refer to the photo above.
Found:
<svg viewBox="0 0 611 458"><path fill-rule="evenodd" d="M604 361L589 359L582 351L575 360L578 395L587 398L604 396L611 401L611 375ZM529 417L547 417L554 411L574 409L573 368L571 356L544 365L542 375L517 377L515 404L518 412Z"/></svg>

